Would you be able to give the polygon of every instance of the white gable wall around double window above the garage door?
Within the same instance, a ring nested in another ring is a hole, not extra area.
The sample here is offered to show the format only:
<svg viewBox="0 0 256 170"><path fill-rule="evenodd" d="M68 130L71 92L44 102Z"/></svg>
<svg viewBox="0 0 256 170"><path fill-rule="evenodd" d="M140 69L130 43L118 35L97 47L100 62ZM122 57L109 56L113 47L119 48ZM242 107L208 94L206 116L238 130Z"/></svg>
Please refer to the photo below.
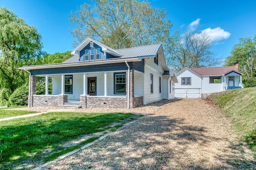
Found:
<svg viewBox="0 0 256 170"><path fill-rule="evenodd" d="M181 85L182 77L191 77L191 85ZM190 69L184 69L177 76L178 83L175 83L175 88L201 88L201 76L195 74Z"/></svg>

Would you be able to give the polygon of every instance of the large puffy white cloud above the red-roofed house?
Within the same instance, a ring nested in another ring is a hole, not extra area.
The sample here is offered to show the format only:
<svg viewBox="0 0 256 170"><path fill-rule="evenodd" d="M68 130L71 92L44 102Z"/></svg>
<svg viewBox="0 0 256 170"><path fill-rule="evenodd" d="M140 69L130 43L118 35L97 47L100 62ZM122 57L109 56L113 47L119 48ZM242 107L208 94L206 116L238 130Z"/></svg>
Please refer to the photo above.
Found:
<svg viewBox="0 0 256 170"><path fill-rule="evenodd" d="M224 29L221 29L220 27L216 27L214 29L212 28L206 28L202 32L205 32L209 35L210 39L212 41L220 41L222 39L228 39L231 35L228 31L224 31Z"/></svg>

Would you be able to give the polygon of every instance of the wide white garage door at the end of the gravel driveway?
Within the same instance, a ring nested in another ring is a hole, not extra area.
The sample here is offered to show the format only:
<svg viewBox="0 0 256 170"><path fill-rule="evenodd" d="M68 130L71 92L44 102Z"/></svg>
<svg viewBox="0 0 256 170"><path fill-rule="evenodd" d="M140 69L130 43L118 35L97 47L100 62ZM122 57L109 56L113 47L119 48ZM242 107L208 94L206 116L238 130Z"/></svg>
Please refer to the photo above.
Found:
<svg viewBox="0 0 256 170"><path fill-rule="evenodd" d="M200 88L175 88L175 98L200 98Z"/></svg>

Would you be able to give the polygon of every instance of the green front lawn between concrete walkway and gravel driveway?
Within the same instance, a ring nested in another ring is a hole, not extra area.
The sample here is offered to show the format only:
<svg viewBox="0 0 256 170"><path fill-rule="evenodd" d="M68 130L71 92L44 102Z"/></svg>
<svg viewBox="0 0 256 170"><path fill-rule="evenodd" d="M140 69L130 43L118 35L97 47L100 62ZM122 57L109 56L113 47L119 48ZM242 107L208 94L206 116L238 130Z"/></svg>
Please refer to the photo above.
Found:
<svg viewBox="0 0 256 170"><path fill-rule="evenodd" d="M96 138L88 139L71 148L61 147L62 143L77 138L79 135L112 129L109 127L111 123L126 118L132 120L132 117L133 114L130 113L52 112L35 117L2 121L0 123L0 150L3 152L0 166L2 165L4 169L12 169L14 165L18 165L25 159L52 160ZM46 149L48 154L42 157Z"/></svg>

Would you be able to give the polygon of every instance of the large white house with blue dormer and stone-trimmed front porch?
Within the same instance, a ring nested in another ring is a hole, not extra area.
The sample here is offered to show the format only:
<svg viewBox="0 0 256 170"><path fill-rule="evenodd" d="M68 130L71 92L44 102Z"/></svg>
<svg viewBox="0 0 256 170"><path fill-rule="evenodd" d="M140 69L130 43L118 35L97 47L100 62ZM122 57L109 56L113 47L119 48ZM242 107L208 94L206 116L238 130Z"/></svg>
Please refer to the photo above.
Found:
<svg viewBox="0 0 256 170"><path fill-rule="evenodd" d="M129 108L174 98L178 81L166 66L161 44L114 50L88 37L71 54L63 63L19 68L30 72L28 107L63 108L73 102L84 108ZM36 95L36 76L46 78L45 95Z"/></svg>

